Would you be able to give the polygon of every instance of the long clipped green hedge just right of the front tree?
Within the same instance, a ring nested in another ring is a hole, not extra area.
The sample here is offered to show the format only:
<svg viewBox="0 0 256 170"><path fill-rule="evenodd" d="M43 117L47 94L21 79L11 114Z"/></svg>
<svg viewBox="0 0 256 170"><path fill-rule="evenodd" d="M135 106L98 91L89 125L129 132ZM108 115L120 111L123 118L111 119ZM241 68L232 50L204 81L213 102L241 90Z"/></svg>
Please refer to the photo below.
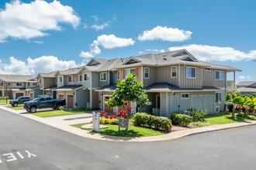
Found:
<svg viewBox="0 0 256 170"><path fill-rule="evenodd" d="M172 128L170 119L165 119L145 113L135 114L133 117L133 121L133 124L135 126L148 126L157 130L162 129L167 132L170 132Z"/></svg>

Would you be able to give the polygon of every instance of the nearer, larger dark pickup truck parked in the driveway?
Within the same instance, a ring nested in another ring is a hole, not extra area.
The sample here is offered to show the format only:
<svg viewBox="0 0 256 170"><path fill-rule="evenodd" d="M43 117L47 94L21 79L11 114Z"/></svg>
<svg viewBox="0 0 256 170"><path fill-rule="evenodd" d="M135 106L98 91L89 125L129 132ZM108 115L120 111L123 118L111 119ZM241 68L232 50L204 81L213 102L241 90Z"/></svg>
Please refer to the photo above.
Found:
<svg viewBox="0 0 256 170"><path fill-rule="evenodd" d="M66 100L57 99L54 100L53 97L37 97L33 101L27 101L24 103L24 109L28 112L36 113L36 109L40 108L50 108L60 110L62 106L66 105Z"/></svg>

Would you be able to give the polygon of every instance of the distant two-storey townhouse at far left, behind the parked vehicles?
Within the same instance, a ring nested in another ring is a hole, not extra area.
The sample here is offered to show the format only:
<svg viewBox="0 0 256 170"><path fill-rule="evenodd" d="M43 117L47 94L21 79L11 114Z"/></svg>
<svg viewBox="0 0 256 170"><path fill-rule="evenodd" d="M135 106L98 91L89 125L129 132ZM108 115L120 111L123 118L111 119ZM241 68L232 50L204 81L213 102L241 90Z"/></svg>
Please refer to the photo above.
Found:
<svg viewBox="0 0 256 170"><path fill-rule="evenodd" d="M30 75L0 74L0 96L16 99L21 96L31 98L40 95L36 80Z"/></svg>

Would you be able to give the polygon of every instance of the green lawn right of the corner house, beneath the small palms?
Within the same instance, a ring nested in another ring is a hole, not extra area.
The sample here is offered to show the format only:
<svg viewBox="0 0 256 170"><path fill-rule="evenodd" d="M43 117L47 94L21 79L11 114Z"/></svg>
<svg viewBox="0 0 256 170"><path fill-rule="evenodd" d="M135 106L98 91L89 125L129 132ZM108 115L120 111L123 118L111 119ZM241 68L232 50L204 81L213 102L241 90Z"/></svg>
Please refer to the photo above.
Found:
<svg viewBox="0 0 256 170"><path fill-rule="evenodd" d="M251 121L254 119L255 117L252 115L249 115L249 117L240 117L236 115L235 118L232 118L232 114L230 112L223 112L220 114L206 116L206 121L208 121L209 124L211 125L229 124L229 123L235 123L235 122L241 122L241 121Z"/></svg>

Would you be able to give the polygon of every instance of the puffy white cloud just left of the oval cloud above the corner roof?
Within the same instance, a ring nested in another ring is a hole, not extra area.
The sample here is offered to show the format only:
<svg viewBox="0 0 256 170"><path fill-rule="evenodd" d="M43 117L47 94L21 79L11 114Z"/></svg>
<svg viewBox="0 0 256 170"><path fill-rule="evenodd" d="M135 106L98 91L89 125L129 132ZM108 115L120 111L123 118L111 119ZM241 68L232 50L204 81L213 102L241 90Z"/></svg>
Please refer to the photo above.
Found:
<svg viewBox="0 0 256 170"><path fill-rule="evenodd" d="M116 47L123 47L123 46L133 46L134 40L132 38L119 38L115 35L105 35L98 36L97 39L99 45L103 46L106 49L113 49Z"/></svg>

